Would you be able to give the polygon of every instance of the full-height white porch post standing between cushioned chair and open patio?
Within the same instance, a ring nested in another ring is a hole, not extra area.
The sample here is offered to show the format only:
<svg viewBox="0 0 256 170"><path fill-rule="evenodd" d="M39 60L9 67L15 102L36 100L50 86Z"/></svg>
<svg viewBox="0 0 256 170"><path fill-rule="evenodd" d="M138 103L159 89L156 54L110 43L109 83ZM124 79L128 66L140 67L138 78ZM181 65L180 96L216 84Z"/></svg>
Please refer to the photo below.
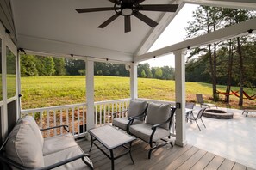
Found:
<svg viewBox="0 0 256 170"><path fill-rule="evenodd" d="M175 55L175 99L180 103L180 108L176 110L176 141L179 146L185 146L185 65L184 50L173 52Z"/></svg>

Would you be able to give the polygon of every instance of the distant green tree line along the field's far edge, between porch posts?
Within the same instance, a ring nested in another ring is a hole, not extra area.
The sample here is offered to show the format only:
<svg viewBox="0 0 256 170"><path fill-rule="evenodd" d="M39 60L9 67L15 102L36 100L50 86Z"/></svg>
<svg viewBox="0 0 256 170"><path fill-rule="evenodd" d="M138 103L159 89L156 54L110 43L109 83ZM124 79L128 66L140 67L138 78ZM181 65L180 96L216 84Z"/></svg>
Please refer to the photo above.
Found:
<svg viewBox="0 0 256 170"><path fill-rule="evenodd" d="M85 75L84 60L41 57L24 54L21 56L21 76L76 76ZM129 76L124 64L95 62L96 76ZM174 69L169 66L150 67L149 64L138 64L138 76L163 80L174 79Z"/></svg>

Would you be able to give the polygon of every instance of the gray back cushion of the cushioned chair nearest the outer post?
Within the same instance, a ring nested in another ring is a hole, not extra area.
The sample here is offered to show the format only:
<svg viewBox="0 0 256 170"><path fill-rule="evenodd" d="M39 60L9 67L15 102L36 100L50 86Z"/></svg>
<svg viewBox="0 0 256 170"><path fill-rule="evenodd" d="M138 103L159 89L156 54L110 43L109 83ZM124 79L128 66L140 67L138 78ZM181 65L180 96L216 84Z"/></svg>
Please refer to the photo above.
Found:
<svg viewBox="0 0 256 170"><path fill-rule="evenodd" d="M147 124L164 123L171 116L171 105L159 105L150 103L147 107ZM169 124L161 125L160 127L169 129Z"/></svg>

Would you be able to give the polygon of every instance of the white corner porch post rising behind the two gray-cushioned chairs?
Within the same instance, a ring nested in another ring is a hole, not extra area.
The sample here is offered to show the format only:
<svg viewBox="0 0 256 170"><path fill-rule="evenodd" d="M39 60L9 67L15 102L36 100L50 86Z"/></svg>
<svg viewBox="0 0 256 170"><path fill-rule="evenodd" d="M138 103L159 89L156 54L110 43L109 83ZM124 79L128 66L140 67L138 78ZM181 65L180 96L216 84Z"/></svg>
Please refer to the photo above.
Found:
<svg viewBox="0 0 256 170"><path fill-rule="evenodd" d="M131 99L138 98L137 63L132 63L131 64L131 70L130 70L130 96L131 96Z"/></svg>

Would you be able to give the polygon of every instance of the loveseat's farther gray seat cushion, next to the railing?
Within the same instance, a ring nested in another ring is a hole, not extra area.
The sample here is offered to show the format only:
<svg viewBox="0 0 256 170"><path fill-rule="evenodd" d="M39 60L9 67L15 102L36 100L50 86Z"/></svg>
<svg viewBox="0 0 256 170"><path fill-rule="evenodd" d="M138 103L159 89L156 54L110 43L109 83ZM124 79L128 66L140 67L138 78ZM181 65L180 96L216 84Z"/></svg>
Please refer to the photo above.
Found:
<svg viewBox="0 0 256 170"><path fill-rule="evenodd" d="M64 134L55 137L47 137L45 138L43 145L43 155L53 154L54 152L58 152L59 150L68 149L73 146L77 146L78 144L75 142L72 134Z"/></svg>

